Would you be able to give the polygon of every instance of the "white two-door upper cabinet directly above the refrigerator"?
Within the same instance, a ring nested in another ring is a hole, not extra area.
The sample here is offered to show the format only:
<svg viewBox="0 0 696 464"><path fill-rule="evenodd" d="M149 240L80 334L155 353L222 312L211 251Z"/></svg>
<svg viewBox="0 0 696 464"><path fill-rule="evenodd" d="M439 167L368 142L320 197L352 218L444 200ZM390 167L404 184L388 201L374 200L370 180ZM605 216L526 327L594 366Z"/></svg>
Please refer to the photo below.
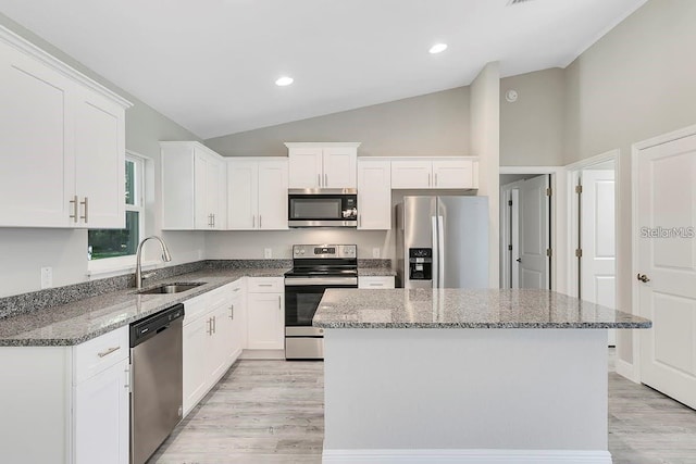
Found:
<svg viewBox="0 0 696 464"><path fill-rule="evenodd" d="M476 158L409 158L391 161L394 189L478 188Z"/></svg>

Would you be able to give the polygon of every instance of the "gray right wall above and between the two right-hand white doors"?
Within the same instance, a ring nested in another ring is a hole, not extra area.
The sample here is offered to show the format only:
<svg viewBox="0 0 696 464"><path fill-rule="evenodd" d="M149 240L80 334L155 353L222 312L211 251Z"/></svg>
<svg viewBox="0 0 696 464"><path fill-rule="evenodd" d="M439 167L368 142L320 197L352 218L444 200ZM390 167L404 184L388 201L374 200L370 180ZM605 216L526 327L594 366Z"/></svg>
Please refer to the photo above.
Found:
<svg viewBox="0 0 696 464"><path fill-rule="evenodd" d="M567 68L566 161L620 149L617 308L632 301L631 145L696 124L696 2L651 0ZM619 358L632 363L632 333Z"/></svg>

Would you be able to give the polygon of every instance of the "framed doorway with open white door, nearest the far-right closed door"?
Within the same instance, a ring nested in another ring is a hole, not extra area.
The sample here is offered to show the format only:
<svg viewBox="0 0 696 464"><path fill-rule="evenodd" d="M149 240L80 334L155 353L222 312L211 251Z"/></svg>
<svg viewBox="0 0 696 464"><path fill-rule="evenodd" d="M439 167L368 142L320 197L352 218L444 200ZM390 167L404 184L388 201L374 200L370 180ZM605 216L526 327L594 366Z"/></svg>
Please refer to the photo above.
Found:
<svg viewBox="0 0 696 464"><path fill-rule="evenodd" d="M610 151L568 166L571 260L569 292L616 309L617 294L617 163ZM608 344L617 343L608 330Z"/></svg>

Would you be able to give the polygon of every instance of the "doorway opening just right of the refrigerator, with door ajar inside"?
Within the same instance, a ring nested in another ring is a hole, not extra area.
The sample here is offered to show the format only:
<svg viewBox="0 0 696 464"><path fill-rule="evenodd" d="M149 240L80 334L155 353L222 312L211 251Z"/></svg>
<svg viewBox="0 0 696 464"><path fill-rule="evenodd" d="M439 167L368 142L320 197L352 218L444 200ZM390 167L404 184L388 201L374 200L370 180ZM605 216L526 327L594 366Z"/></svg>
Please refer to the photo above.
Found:
<svg viewBox="0 0 696 464"><path fill-rule="evenodd" d="M500 175L500 287L552 288L551 175Z"/></svg>

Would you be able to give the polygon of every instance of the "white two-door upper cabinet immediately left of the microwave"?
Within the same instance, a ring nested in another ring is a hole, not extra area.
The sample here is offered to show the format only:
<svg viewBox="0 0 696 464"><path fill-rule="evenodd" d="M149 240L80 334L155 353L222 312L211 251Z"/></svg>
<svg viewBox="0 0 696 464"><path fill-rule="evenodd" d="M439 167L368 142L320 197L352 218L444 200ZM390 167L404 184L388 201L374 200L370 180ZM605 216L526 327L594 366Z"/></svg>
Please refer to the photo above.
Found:
<svg viewBox="0 0 696 464"><path fill-rule="evenodd" d="M287 158L227 160L227 228L287 229Z"/></svg>

